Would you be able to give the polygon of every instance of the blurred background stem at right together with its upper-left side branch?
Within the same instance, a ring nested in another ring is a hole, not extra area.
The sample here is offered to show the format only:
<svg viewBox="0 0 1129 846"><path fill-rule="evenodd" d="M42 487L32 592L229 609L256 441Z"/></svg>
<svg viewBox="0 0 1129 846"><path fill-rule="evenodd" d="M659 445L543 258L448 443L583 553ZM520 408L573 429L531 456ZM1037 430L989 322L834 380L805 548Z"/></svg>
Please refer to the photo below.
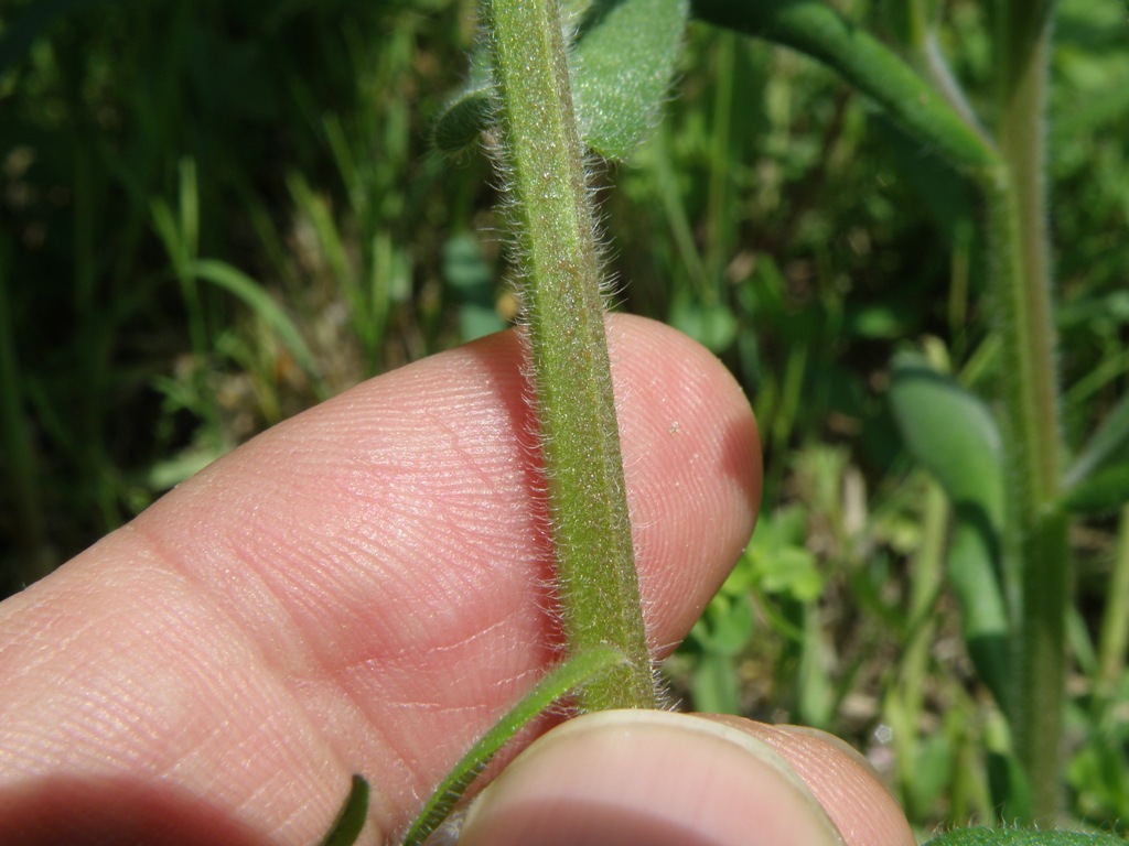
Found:
<svg viewBox="0 0 1129 846"><path fill-rule="evenodd" d="M1001 343L1009 487L1005 578L1018 606L1008 717L1036 818L1059 809L1068 522L1062 490L1056 336L1044 185L1044 115L1053 0L1003 0L996 46L1000 131L986 138L948 100L824 0L694 0L695 17L824 62L969 176L986 199L992 297Z"/></svg>

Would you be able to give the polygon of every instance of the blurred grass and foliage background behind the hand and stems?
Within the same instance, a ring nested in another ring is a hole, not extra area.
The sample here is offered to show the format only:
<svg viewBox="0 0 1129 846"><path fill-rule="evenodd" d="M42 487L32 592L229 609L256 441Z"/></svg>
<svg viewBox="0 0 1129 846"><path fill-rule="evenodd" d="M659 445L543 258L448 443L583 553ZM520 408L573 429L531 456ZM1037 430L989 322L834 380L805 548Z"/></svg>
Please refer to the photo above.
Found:
<svg viewBox="0 0 1129 846"><path fill-rule="evenodd" d="M837 5L896 30L896 0ZM428 139L473 14L0 6L0 596L272 423L513 318L489 162ZM945 5L943 46L990 104L986 26L982 3ZM1127 37L1121 3L1060 3L1049 175L1075 443L1129 388ZM699 26L656 136L597 179L616 307L714 350L764 442L760 527L671 660L672 696L843 734L925 828L988 818L999 715L940 573L944 497L885 402L899 349L974 390L997 376L969 194L830 72ZM1071 620L1071 802L1110 826L1129 818L1129 677L1094 644L1129 556L1118 526L1076 532Z"/></svg>

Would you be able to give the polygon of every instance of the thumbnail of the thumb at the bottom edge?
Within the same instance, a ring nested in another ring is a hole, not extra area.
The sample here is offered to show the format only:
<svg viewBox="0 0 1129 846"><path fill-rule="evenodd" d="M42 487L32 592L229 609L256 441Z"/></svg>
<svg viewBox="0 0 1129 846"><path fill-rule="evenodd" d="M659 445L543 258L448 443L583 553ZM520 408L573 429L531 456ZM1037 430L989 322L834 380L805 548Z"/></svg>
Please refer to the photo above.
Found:
<svg viewBox="0 0 1129 846"><path fill-rule="evenodd" d="M771 746L724 723L658 711L603 712L554 729L476 800L460 839L530 843L844 844Z"/></svg>

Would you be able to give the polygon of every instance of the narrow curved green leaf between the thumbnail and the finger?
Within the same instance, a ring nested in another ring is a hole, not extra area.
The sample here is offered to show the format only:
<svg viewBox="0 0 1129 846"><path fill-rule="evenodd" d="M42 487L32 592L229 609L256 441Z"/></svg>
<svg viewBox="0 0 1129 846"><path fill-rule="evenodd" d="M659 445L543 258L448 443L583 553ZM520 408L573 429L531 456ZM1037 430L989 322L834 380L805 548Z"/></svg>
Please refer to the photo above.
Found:
<svg viewBox="0 0 1129 846"><path fill-rule="evenodd" d="M619 650L594 649L568 659L537 682L517 705L495 723L483 738L455 765L443 779L423 810L404 835L404 846L420 846L435 831L462 799L495 754L542 711L558 699L584 687L598 676L627 662Z"/></svg>

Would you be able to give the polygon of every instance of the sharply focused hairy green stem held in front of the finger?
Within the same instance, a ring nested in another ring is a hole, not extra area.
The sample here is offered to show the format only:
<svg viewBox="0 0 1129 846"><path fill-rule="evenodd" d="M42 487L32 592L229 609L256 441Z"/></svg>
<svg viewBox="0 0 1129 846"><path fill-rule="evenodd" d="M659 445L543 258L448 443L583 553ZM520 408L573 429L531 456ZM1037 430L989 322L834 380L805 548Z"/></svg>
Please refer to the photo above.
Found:
<svg viewBox="0 0 1129 846"><path fill-rule="evenodd" d="M558 0L488 0L483 8L568 649L614 646L627 658L584 689L580 706L654 707L596 227Z"/></svg>

